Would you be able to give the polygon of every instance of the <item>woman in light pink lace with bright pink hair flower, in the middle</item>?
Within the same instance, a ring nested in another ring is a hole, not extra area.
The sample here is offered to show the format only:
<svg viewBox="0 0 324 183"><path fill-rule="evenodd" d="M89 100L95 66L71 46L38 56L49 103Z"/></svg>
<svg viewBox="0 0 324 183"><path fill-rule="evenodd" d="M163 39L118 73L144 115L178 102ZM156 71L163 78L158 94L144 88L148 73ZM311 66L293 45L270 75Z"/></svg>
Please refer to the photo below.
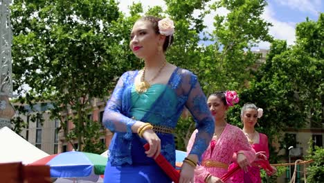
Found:
<svg viewBox="0 0 324 183"><path fill-rule="evenodd" d="M195 169L195 183L223 182L222 175L227 173L228 165L237 153L237 164L244 171L248 171L249 164L255 159L255 150L240 128L226 122L228 107L237 103L239 98L236 92L216 92L208 97L208 107L215 118L215 133L207 150L201 156L201 164ZM192 133L188 143L187 152L190 152L195 141L197 130ZM231 182L231 180L227 180Z"/></svg>

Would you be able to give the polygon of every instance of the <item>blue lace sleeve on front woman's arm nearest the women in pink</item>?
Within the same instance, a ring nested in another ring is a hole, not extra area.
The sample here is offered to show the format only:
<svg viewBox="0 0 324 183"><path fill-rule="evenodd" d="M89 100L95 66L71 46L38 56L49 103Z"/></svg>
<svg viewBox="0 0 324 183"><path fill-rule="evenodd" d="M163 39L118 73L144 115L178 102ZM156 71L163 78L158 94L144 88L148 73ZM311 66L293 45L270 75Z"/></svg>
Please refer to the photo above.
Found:
<svg viewBox="0 0 324 183"><path fill-rule="evenodd" d="M189 154L195 154L199 157L199 162L201 161L201 155L204 153L208 147L210 140L213 138L213 133L215 130L214 118L210 114L207 106L207 100L204 92L199 85L197 76L190 74L184 79L183 83L190 83L190 88L188 89L188 101L186 102L186 107L192 114L196 122L196 128L198 130L195 138L195 142L192 145L192 149Z"/></svg>

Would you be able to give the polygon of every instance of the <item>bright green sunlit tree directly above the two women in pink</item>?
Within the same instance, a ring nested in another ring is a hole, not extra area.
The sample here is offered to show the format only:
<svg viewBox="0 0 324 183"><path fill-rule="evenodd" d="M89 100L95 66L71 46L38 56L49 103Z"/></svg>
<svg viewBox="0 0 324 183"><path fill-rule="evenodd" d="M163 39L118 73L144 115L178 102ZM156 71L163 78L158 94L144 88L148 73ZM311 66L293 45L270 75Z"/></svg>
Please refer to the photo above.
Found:
<svg viewBox="0 0 324 183"><path fill-rule="evenodd" d="M200 61L201 78L208 83L209 92L215 90L240 90L252 76L251 68L260 55L251 52L258 42L271 42L269 24L262 19L267 1L216 1L210 10L223 8L227 15L214 17L213 33L206 46L206 56ZM205 87L206 89L206 87Z"/></svg>

